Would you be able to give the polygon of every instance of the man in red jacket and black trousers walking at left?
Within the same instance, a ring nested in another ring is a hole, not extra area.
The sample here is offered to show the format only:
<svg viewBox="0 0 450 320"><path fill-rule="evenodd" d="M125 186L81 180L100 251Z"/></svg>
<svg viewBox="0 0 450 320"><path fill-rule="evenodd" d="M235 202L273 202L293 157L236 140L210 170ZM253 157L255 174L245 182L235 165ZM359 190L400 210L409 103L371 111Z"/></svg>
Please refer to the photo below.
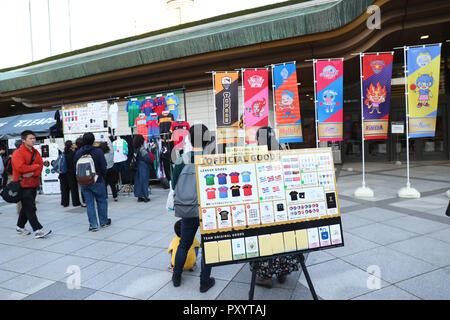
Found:
<svg viewBox="0 0 450 320"><path fill-rule="evenodd" d="M34 148L36 135L33 131L25 130L21 133L22 145L14 151L11 162L13 167L13 180L19 181L22 187L22 209L19 212L16 231L28 235L31 232L25 229L30 223L35 238L48 235L51 230L44 230L36 216L36 190L40 184L40 176L44 166L40 153ZM34 160L32 160L34 154ZM31 163L31 164L30 164Z"/></svg>

